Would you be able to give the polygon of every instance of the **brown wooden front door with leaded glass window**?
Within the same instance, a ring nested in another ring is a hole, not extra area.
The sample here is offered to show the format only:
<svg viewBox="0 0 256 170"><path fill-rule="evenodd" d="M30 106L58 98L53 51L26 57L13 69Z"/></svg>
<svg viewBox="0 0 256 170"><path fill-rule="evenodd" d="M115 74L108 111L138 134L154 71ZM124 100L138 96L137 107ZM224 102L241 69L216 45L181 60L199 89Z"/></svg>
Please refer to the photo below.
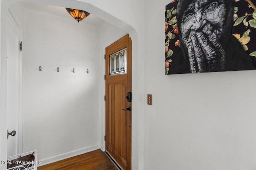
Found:
<svg viewBox="0 0 256 170"><path fill-rule="evenodd" d="M106 47L106 151L124 169L131 169L132 41L127 34Z"/></svg>

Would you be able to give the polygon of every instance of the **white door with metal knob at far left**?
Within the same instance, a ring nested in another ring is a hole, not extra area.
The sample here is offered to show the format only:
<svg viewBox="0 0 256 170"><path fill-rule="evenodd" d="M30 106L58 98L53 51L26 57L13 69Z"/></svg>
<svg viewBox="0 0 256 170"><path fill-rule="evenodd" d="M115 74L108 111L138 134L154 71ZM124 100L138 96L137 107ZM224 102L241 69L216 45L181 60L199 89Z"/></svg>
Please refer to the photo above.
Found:
<svg viewBox="0 0 256 170"><path fill-rule="evenodd" d="M9 13L10 14L10 13ZM19 154L20 116L20 29L11 15L7 25L7 128L16 131L15 136L8 136L7 156Z"/></svg>

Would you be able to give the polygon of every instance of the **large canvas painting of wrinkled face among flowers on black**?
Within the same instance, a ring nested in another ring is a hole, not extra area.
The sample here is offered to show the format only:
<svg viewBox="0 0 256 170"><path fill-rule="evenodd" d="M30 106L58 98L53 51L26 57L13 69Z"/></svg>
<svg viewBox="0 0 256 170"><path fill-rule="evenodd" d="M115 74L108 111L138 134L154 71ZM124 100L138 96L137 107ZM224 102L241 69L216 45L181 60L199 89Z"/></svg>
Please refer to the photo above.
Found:
<svg viewBox="0 0 256 170"><path fill-rule="evenodd" d="M256 69L256 0L172 0L165 73Z"/></svg>

